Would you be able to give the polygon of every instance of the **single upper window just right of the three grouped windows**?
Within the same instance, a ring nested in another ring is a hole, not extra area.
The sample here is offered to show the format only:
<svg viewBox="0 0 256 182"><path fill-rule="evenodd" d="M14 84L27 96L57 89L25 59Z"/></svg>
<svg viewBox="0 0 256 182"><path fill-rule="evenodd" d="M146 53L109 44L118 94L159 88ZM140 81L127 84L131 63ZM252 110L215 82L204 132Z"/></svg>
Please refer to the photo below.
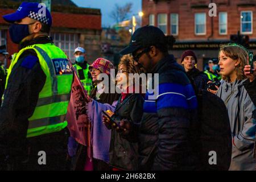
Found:
<svg viewBox="0 0 256 182"><path fill-rule="evenodd" d="M195 14L195 34L196 35L206 34L206 14L205 13Z"/></svg>

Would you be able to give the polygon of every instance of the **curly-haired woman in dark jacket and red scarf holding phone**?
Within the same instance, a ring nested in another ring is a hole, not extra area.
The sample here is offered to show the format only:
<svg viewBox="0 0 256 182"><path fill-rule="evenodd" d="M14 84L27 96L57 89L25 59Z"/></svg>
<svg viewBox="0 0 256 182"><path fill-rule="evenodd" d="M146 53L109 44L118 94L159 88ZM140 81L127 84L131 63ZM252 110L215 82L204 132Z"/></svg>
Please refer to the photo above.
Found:
<svg viewBox="0 0 256 182"><path fill-rule="evenodd" d="M141 74L143 69L134 63L133 57L125 55L121 58L118 65L115 82L122 90L122 93L115 107L112 119L116 123L126 119L131 125L139 125L143 114L144 96L142 93L135 93L135 81L133 77L129 77L130 73ZM141 90L141 88L138 89ZM112 130L109 149L110 166L113 167L114 171L138 170L138 142L129 141L126 135L120 132L122 128L112 125L110 119L104 115L103 122L108 129ZM131 136L133 137L137 134L138 131L134 131Z"/></svg>

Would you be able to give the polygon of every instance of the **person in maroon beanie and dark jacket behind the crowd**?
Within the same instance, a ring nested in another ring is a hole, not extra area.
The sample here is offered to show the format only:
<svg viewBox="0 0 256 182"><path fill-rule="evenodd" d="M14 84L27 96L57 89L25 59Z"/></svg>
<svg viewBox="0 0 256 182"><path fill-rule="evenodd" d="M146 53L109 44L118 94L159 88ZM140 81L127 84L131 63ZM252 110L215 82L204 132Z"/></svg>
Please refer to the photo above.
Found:
<svg viewBox="0 0 256 182"><path fill-rule="evenodd" d="M197 64L197 58L195 52L187 50L183 52L181 57L181 64L183 65L188 76L192 78L196 85L197 90L207 89L208 77L204 72L200 72L199 69L195 67Z"/></svg>

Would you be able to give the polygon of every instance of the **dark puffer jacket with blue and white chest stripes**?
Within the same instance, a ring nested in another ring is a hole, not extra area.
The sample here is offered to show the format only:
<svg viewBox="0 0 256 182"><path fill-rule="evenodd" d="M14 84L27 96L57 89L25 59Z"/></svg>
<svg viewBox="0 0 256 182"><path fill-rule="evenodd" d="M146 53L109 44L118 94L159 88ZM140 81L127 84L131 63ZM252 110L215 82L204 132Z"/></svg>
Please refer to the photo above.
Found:
<svg viewBox="0 0 256 182"><path fill-rule="evenodd" d="M151 73L159 74L159 93L156 100L149 100L149 93L145 97L139 128L140 169L194 169L189 137L197 100L192 85L172 55L160 60Z"/></svg>

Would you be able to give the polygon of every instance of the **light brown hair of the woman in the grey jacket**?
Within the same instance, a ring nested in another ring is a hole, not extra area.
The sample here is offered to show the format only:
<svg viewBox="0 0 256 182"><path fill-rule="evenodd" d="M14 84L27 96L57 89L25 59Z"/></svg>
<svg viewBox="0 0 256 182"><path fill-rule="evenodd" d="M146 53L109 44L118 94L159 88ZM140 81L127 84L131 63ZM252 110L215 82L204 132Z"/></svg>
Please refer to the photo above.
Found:
<svg viewBox="0 0 256 182"><path fill-rule="evenodd" d="M224 45L220 48L220 52L223 52L226 56L233 60L238 60L238 65L235 67L236 75L238 80L245 79L245 74L243 73L243 68L247 64L247 58L249 53L246 48L238 44ZM220 57L220 52L218 53ZM230 80L229 77L221 76L223 80Z"/></svg>

